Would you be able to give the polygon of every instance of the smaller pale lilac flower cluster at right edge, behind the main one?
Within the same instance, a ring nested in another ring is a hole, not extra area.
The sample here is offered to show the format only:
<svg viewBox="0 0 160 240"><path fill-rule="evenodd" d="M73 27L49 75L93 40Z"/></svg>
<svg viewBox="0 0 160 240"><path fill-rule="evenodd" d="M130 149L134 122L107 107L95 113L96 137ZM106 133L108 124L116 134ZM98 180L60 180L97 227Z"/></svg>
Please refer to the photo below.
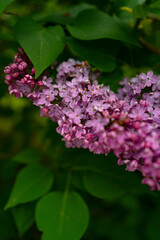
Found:
<svg viewBox="0 0 160 240"><path fill-rule="evenodd" d="M160 125L160 76L152 71L141 73L132 79L120 82L118 98L126 102L125 110L130 118L139 117L150 122L154 128Z"/></svg>

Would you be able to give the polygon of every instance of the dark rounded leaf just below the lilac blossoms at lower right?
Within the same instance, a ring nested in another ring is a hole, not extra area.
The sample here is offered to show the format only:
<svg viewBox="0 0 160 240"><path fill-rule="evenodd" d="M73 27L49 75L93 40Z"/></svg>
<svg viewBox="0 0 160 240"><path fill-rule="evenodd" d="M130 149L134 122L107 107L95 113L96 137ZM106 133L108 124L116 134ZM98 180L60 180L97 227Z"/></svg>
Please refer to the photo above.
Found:
<svg viewBox="0 0 160 240"><path fill-rule="evenodd" d="M99 162L91 161L91 169L84 174L84 185L88 192L99 198L116 198L126 192L124 176L115 158L107 158Z"/></svg>

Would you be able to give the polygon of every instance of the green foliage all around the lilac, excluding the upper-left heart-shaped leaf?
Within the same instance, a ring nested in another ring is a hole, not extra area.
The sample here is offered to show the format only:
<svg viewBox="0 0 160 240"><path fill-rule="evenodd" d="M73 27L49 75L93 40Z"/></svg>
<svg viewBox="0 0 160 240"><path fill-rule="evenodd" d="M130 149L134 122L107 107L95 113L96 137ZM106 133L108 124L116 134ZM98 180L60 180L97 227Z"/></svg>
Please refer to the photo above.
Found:
<svg viewBox="0 0 160 240"><path fill-rule="evenodd" d="M28 50L30 28L22 36L20 22L29 16L43 27L62 26L67 38L59 63L88 60L115 91L124 76L159 74L160 1L11 2L0 0L6 11L0 17L0 240L159 240L160 194L143 186L139 173L117 166L112 154L66 149L56 123L8 94L3 69L17 40ZM50 64L29 56L40 66L37 76Z"/></svg>

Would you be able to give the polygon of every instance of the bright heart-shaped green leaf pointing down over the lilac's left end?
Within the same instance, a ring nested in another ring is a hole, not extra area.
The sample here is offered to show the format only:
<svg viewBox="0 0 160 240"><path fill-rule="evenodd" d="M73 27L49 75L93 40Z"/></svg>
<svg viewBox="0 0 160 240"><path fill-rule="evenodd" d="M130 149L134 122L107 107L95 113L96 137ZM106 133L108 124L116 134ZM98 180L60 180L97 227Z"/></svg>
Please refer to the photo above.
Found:
<svg viewBox="0 0 160 240"><path fill-rule="evenodd" d="M32 19L17 22L15 37L32 61L36 78L52 64L64 49L64 31L61 26L43 28Z"/></svg>

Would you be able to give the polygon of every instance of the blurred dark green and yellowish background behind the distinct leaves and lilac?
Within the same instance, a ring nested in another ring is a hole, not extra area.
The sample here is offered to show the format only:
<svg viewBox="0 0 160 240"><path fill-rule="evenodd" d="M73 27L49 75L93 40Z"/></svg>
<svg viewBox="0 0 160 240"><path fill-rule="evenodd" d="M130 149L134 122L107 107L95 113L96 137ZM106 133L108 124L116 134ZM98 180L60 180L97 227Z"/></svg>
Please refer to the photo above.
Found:
<svg viewBox="0 0 160 240"><path fill-rule="evenodd" d="M160 2L159 5L151 8L151 15L148 18L138 17L137 20L130 13L130 9L144 2L137 0L88 0L85 2L17 0L0 16L0 240L38 240L41 237L34 223L23 236L20 236L14 223L13 212L3 211L16 174L24 166L25 157L26 161L32 161L40 153L45 164L55 159L67 162L71 159L93 157L92 153L85 150L66 149L61 137L56 133L56 123L41 118L39 109L27 99L15 99L14 96L9 95L8 86L4 83L3 69L13 61L14 54L18 50L18 44L13 37L13 28L19 15L30 15L37 21L43 22L48 15L56 12L64 14L77 4L88 3L136 26L137 32L142 37L143 47L133 49L119 43L116 52L117 67L110 73L102 74L100 78L100 82L111 85L111 88L116 90L118 82L124 76L132 77L150 69L157 74L160 73ZM152 2L154 1L146 1L146 4L149 5ZM67 49L66 59L68 56L74 55ZM96 158L100 159L102 156ZM61 174L62 178L63 172ZM90 223L83 240L160 239L159 195L147 192L104 200L86 193L81 178L75 176L73 184L82 193L90 210ZM59 186L63 189L63 183Z"/></svg>

